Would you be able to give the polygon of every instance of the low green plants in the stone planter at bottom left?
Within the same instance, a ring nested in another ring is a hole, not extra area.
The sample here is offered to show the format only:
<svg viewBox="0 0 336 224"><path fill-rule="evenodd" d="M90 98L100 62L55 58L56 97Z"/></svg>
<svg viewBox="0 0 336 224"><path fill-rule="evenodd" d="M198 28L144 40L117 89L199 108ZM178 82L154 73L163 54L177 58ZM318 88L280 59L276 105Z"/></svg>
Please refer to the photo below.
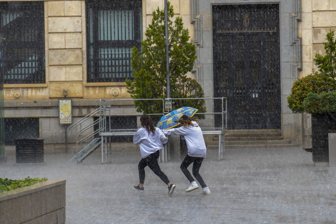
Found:
<svg viewBox="0 0 336 224"><path fill-rule="evenodd" d="M18 187L26 187L32 184L43 182L48 180L47 178L30 178L27 177L24 180L10 180L8 178L0 178L0 192L12 190Z"/></svg>

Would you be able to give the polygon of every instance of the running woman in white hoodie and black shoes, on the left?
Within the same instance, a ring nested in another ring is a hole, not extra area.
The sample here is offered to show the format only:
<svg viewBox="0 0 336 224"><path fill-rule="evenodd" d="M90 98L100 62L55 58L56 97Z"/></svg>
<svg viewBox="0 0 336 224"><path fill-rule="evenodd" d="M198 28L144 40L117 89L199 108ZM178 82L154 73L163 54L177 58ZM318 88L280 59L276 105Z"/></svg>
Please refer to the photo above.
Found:
<svg viewBox="0 0 336 224"><path fill-rule="evenodd" d="M139 128L133 136L133 143L140 144L140 152L142 159L138 164L140 183L138 186L133 186L135 190L143 192L143 183L145 181L145 167L148 166L160 179L168 186L168 195L174 192L175 185L172 184L166 174L164 174L159 166L158 158L160 149L163 144L168 142L168 138L164 133L154 126L152 118L148 114L143 114L140 117L141 128Z"/></svg>

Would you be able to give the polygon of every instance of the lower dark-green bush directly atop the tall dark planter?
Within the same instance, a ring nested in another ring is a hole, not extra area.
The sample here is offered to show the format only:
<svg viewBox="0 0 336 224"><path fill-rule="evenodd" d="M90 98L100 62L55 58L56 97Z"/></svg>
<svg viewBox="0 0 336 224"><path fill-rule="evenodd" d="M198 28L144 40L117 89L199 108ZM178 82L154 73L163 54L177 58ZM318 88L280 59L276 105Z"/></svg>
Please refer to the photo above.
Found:
<svg viewBox="0 0 336 224"><path fill-rule="evenodd" d="M336 112L336 91L322 93L309 92L303 101L303 108L309 114Z"/></svg>

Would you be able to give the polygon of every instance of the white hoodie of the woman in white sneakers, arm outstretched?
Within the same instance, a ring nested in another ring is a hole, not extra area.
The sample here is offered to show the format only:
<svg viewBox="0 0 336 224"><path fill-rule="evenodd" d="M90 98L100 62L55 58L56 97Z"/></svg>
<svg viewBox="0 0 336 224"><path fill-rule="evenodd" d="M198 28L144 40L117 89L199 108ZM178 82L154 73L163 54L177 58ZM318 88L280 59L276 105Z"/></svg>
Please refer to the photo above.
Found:
<svg viewBox="0 0 336 224"><path fill-rule="evenodd" d="M164 130L164 133L167 135L183 135L188 147L188 155L205 158L207 149L205 147L202 130L195 121L192 121L192 123L194 126L172 128Z"/></svg>

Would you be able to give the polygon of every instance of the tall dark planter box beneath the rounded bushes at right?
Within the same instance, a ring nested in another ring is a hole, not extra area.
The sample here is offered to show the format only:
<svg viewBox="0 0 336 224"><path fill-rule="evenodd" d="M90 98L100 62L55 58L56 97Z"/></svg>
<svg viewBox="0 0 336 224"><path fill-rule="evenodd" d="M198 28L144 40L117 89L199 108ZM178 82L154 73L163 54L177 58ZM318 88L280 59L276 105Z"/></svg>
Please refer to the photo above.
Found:
<svg viewBox="0 0 336 224"><path fill-rule="evenodd" d="M329 162L328 131L336 129L336 113L311 116L311 148L313 162Z"/></svg>

